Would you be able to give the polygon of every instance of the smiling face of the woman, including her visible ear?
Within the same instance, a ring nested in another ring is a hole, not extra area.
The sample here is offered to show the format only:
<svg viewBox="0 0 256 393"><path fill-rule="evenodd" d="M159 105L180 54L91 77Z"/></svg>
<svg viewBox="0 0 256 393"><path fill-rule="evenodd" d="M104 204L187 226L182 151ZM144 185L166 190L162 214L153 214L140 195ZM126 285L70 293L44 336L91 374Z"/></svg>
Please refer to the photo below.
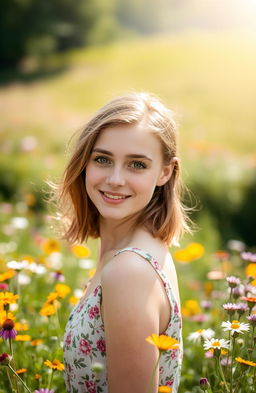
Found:
<svg viewBox="0 0 256 393"><path fill-rule="evenodd" d="M122 220L141 211L171 172L158 137L143 123L109 127L92 150L86 190L102 218Z"/></svg>

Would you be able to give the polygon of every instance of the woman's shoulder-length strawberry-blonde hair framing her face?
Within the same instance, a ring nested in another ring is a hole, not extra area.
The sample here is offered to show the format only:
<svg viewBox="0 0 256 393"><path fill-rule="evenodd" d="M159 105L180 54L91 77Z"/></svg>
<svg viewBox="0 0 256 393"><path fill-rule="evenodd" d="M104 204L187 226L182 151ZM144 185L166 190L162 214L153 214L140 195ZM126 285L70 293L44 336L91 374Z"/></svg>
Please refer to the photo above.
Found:
<svg viewBox="0 0 256 393"><path fill-rule="evenodd" d="M159 137L163 163L177 158L177 125L172 111L154 95L130 93L103 106L88 121L77 139L73 153L58 184L54 186L61 238L69 243L83 242L100 236L99 212L86 192L85 170L100 132L107 127L137 124L144 121ZM155 187L153 196L138 214L135 225L144 226L167 244L178 242L184 232L191 232L187 212L181 201L183 185L179 160L175 160L172 176L163 186Z"/></svg>

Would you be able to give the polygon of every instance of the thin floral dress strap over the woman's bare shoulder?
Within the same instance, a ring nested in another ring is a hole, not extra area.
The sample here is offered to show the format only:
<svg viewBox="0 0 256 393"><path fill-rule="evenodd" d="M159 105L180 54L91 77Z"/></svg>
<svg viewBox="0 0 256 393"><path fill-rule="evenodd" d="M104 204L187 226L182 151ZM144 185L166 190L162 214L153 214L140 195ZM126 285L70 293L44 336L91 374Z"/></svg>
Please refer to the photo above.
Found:
<svg viewBox="0 0 256 393"><path fill-rule="evenodd" d="M121 254L124 251L132 251L132 252L140 255L142 258L146 259L153 266L153 268L156 270L156 272L159 274L159 276L161 277L161 279L163 281L163 285L166 290L167 297L169 299L171 308L175 309L175 311L177 311L178 303L176 301L172 285L171 285L169 279L167 278L166 274L164 273L164 271L160 268L158 261L155 258L153 258L152 255L150 255L148 252L146 252L145 250L142 250L141 248L137 248L137 247L122 248L121 250L118 250L114 254L114 257L116 255Z"/></svg>

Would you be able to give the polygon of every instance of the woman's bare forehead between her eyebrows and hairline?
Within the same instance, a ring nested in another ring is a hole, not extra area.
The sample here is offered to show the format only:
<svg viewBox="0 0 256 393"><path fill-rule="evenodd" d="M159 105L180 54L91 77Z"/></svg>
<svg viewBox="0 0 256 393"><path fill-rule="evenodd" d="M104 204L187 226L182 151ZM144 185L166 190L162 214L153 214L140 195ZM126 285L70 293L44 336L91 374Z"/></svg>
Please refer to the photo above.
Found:
<svg viewBox="0 0 256 393"><path fill-rule="evenodd" d="M96 147L115 154L161 155L159 137L143 123L118 125L102 130L94 145Z"/></svg>

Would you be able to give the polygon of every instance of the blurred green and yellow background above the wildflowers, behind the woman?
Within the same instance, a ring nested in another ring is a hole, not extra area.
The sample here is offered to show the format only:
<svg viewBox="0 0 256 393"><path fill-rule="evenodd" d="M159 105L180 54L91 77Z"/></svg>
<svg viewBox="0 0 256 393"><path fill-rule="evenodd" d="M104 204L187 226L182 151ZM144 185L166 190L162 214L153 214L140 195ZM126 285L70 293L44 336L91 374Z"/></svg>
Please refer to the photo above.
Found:
<svg viewBox="0 0 256 393"><path fill-rule="evenodd" d="M108 99L145 90L176 112L198 225L182 244L207 253L178 268L182 300L195 296L212 251L230 239L255 246L254 0L3 0L1 9L1 202L18 215L29 206L33 231L56 236L45 180L61 175L71 135ZM36 253L29 233L13 241L14 257Z"/></svg>

